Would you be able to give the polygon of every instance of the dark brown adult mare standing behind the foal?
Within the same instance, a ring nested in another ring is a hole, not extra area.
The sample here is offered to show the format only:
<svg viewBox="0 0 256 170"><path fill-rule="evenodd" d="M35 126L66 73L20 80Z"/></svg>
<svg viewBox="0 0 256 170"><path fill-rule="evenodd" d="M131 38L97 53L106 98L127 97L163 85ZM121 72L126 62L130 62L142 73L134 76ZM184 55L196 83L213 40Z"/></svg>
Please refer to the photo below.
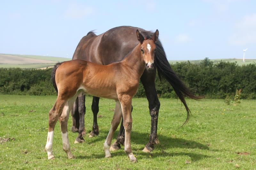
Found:
<svg viewBox="0 0 256 170"><path fill-rule="evenodd" d="M100 35L95 35L92 31L84 36L76 47L76 51L73 55L74 59L84 59L92 63L98 63L107 65L114 63L116 61L121 61L125 56L127 56L138 44L136 29L138 29L146 38L152 36L152 32L145 31L141 28L132 26L119 26L112 28L105 33ZM192 99L198 99L197 96L193 95L189 89L184 85L184 83L178 78L175 72L171 69L171 66L166 58L164 48L158 39L156 41L156 55L155 55L155 69L152 71L144 71L140 80L144 86L146 96L148 99L149 113L151 116L151 132L149 137L149 142L144 148L144 152L150 152L154 149L154 144L158 144L157 139L157 120L158 111L160 108L160 102L157 98L156 87L155 87L155 77L156 68L158 76L161 79L164 77L173 87L177 96L180 98L181 102L184 104L187 110L187 120L189 119L190 110L186 104L184 97L189 97ZM79 132L75 143L81 143L84 141L84 114L85 114L85 96L80 94L75 101L74 107L71 111L72 115L72 131ZM99 98L93 97L92 100L92 112L93 112L93 126L90 137L99 134L99 128L97 124L97 114L99 112ZM119 130L119 135L117 136L116 142L112 144L111 150L116 150L120 148L120 144L124 143L124 126L123 119Z"/></svg>

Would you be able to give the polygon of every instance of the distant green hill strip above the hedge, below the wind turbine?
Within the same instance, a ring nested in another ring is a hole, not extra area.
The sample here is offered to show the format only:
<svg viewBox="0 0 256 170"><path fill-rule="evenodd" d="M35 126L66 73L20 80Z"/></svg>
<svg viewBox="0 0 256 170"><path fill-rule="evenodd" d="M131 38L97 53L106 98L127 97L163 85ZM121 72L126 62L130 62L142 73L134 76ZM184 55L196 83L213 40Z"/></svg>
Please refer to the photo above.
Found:
<svg viewBox="0 0 256 170"><path fill-rule="evenodd" d="M210 59L211 60L211 59ZM200 63L201 61L203 60L189 60L189 62L191 63L195 63L195 64L198 64ZM256 59L248 59L248 60L244 60L243 62L243 59L237 59L237 58L227 58L227 59L212 59L211 60L213 63L218 63L220 61L223 61L223 62L230 62L230 63L237 63L238 65L247 65L247 64L250 64L250 63L256 63ZM169 63L170 64L175 64L175 63L180 63L180 62L188 62L188 60L169 60Z"/></svg>

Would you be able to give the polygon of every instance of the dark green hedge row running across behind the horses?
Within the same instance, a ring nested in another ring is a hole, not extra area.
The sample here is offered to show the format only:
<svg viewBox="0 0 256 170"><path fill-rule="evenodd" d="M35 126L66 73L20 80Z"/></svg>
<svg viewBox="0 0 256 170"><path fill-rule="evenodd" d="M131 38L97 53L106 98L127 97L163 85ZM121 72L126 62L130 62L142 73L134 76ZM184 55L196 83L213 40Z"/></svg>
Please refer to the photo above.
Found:
<svg viewBox="0 0 256 170"><path fill-rule="evenodd" d="M181 62L171 65L186 85L197 95L209 98L234 96L242 88L241 98L256 99L256 64L239 66L236 63L212 63L205 58L199 64ZM23 95L57 95L51 83L52 69L0 68L0 93ZM159 97L176 98L168 82L156 77ZM145 97L140 84L137 97Z"/></svg>

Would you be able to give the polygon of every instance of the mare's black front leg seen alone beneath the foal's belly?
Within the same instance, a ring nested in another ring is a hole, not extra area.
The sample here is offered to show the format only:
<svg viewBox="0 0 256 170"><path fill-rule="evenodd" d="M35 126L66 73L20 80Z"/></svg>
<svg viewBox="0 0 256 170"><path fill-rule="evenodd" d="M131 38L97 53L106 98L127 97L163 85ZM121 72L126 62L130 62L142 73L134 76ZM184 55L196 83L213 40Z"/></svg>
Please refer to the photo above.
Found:
<svg viewBox="0 0 256 170"><path fill-rule="evenodd" d="M93 125L92 125L92 131L89 137L94 137L99 135L99 127L97 122L97 115L99 112L99 100L100 100L99 97L93 96L93 99L92 99Z"/></svg>

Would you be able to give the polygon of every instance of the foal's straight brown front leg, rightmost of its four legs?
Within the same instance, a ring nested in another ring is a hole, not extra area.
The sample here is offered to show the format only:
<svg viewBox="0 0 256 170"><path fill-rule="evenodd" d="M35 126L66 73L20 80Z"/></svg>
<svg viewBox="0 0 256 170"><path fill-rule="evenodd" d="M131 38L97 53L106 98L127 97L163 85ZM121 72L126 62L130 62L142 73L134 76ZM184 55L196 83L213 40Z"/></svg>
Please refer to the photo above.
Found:
<svg viewBox="0 0 256 170"><path fill-rule="evenodd" d="M129 95L118 96L120 100L124 118L124 152L128 155L131 162L137 162L132 153L131 131L132 131L132 97Z"/></svg>

